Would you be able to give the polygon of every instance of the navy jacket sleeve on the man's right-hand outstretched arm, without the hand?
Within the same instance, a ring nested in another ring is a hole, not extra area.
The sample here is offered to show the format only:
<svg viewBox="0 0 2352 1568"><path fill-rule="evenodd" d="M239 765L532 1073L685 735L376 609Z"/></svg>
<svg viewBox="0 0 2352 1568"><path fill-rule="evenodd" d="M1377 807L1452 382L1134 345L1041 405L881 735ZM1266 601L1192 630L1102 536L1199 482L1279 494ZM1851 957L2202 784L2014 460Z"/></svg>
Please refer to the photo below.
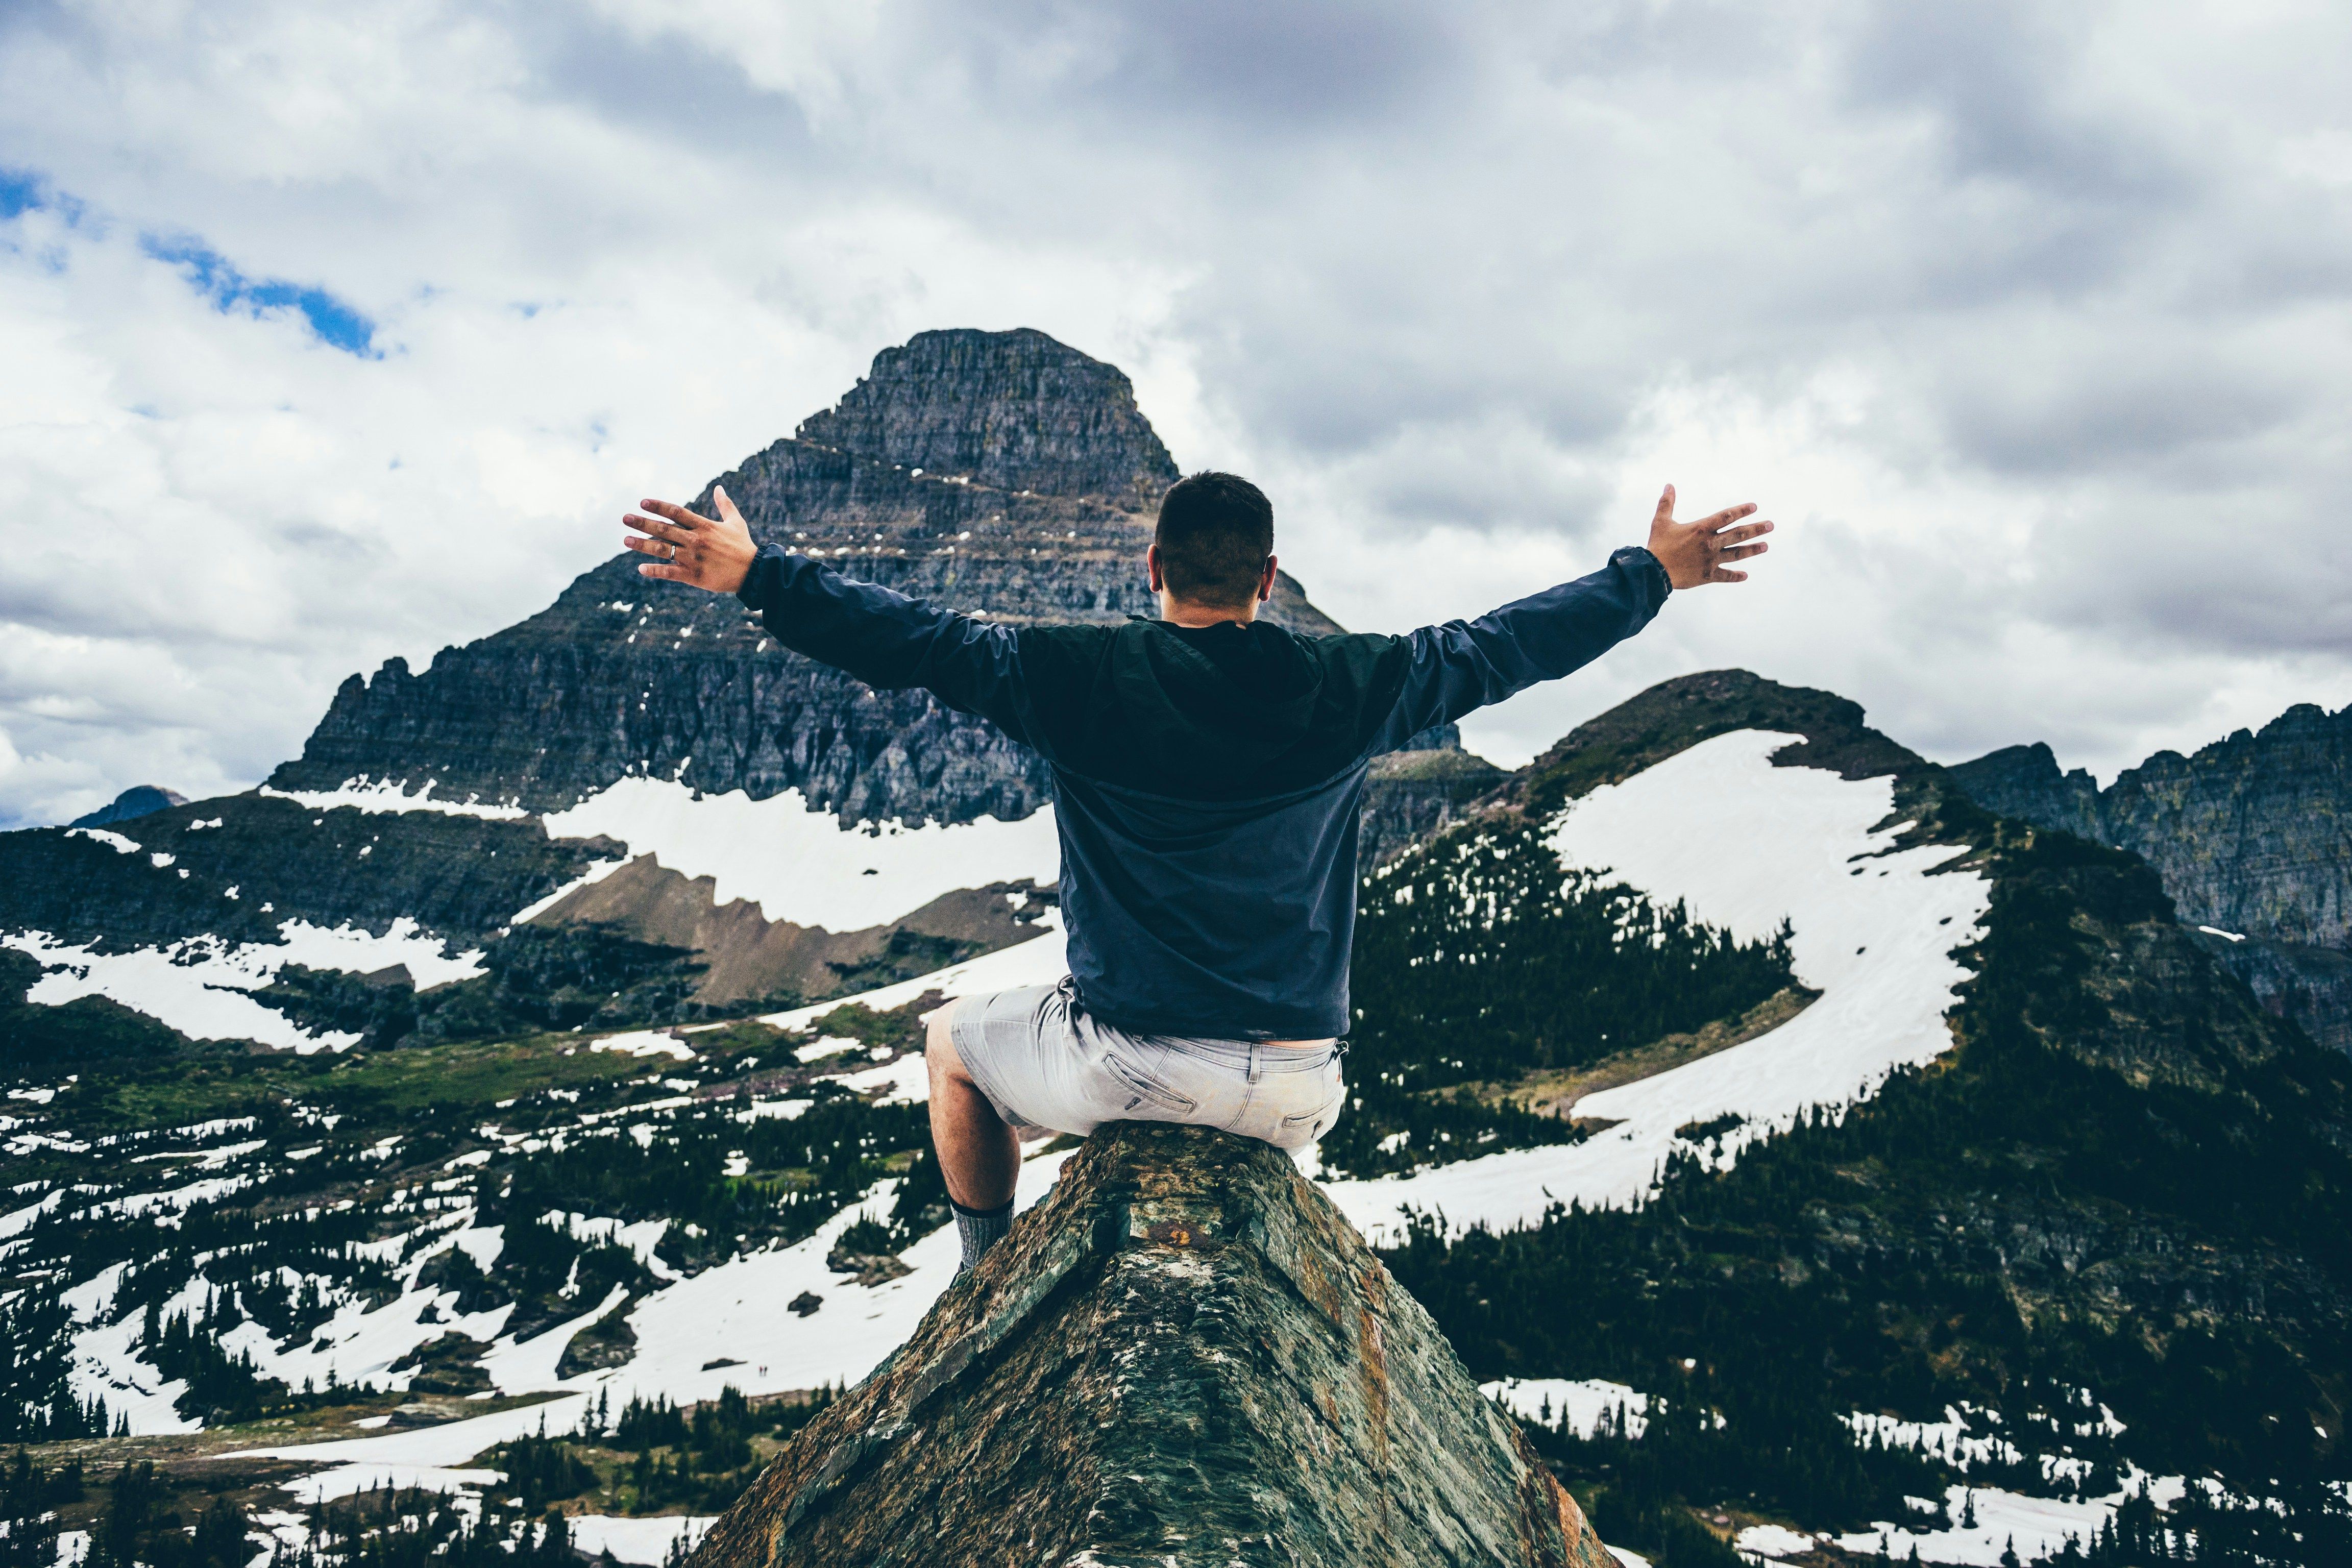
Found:
<svg viewBox="0 0 2352 1568"><path fill-rule="evenodd" d="M1658 557L1630 545L1592 576L1477 621L1421 628L1404 639L1411 649L1404 689L1374 750L1395 750L1432 724L1592 663L1649 625L1668 592Z"/></svg>

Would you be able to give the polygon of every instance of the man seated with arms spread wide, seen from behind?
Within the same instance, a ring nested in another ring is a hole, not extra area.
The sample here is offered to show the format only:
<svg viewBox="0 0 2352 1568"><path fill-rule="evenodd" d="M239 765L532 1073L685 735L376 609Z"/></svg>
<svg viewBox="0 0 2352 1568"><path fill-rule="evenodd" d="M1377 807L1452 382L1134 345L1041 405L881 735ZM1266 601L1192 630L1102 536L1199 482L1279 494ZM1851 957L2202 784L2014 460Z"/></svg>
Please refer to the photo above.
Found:
<svg viewBox="0 0 2352 1568"><path fill-rule="evenodd" d="M1192 1121L1296 1150L1338 1119L1364 769L1411 736L1557 679L1632 637L1670 588L1738 583L1769 522L1733 505L1477 621L1301 637L1258 621L1275 510L1200 473L1143 557L1160 621L1009 628L755 545L647 501L644 576L734 592L776 639L870 686L924 686L1054 776L1070 976L931 1013L931 1145L964 1267L1011 1222L1023 1128ZM1738 524L1738 527L1733 527ZM1750 543L1757 541L1757 543Z"/></svg>

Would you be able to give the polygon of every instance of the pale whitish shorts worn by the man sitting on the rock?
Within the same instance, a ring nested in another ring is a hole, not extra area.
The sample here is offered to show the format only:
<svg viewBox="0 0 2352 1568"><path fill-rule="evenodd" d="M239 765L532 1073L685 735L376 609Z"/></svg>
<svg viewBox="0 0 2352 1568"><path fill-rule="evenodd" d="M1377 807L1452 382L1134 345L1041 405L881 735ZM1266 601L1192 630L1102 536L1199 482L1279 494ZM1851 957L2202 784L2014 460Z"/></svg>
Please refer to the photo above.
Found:
<svg viewBox="0 0 2352 1568"><path fill-rule="evenodd" d="M1301 1150L1338 1121L1343 1046L1129 1034L1087 1016L1077 985L950 1004L948 1037L1014 1128L1084 1138L1103 1121L1183 1121Z"/></svg>

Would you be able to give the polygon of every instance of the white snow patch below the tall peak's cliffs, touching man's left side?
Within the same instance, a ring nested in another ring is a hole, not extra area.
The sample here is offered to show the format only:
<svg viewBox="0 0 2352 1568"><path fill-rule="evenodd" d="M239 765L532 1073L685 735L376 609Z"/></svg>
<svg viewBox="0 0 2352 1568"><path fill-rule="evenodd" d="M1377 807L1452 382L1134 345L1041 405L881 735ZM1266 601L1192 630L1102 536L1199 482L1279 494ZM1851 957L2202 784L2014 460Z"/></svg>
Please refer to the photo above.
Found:
<svg viewBox="0 0 2352 1568"><path fill-rule="evenodd" d="M703 795L663 778L623 778L543 818L553 839L604 835L684 877L713 877L717 903L748 898L771 922L863 931L913 914L941 893L995 882L1054 882L1054 809L1018 823L882 823L844 827L800 790L753 799Z"/></svg>

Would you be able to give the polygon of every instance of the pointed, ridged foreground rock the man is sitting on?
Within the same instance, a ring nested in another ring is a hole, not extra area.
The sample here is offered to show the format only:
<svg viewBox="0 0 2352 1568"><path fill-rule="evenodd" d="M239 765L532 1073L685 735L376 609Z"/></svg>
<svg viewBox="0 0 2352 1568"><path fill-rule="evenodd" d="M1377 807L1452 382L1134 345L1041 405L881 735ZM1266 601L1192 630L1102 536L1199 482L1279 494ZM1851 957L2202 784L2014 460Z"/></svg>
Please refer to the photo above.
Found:
<svg viewBox="0 0 2352 1568"><path fill-rule="evenodd" d="M1277 1150L1117 1124L809 1422L694 1568L1613 1568Z"/></svg>

